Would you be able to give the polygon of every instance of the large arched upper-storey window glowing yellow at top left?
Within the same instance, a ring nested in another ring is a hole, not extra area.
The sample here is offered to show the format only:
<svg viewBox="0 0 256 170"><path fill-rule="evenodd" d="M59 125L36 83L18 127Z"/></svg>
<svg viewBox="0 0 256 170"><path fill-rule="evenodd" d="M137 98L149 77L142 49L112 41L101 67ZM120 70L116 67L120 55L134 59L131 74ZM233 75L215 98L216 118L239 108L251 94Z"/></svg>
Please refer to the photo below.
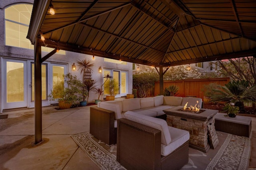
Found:
<svg viewBox="0 0 256 170"><path fill-rule="evenodd" d="M34 49L34 45L26 38L32 8L31 4L16 4L5 9L5 45ZM42 51L50 52L52 50L52 48L42 47ZM58 54L65 55L65 53L60 50Z"/></svg>

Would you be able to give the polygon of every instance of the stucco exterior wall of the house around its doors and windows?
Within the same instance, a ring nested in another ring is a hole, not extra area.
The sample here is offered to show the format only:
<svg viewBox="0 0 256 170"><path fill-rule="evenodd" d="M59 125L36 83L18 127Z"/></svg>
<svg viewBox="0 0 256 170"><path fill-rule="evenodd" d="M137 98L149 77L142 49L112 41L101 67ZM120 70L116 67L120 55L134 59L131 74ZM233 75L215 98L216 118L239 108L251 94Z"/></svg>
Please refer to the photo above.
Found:
<svg viewBox="0 0 256 170"><path fill-rule="evenodd" d="M5 8L8 8L11 5L18 4L18 3L28 3L33 4L34 0L1 0L0 1L0 111L2 113L3 107L2 107L2 101L6 96L3 96L3 90L6 89L6 87L3 87L2 79L2 64L3 59L22 59L25 61L34 61L34 50L32 49L24 49L19 47L11 47L5 45L5 20L4 20L4 11ZM43 48L43 47L42 47ZM42 51L42 57L44 57L48 52ZM116 64L116 63L110 63L110 62L104 62L104 58L95 56L95 59L92 60L92 55L85 55L81 53L74 53L70 51L66 51L65 55L61 54L54 54L49 59L47 59L47 62L52 63L60 63L60 64L67 64L67 71L71 72L72 75L76 75L80 80L82 80L82 74L80 73L80 70L78 70L78 66L76 61L78 60L91 60L92 63L94 63L93 72L92 72L92 79L97 81L97 86L101 86L103 83L103 73L100 73L98 71L98 68L101 66L102 69L114 69L114 70L124 70L128 72L128 80L126 86L128 86L128 92L127 94L132 93L132 63L124 64ZM76 70L72 70L72 64L76 64ZM29 75L29 74L27 74ZM27 82L29 84L29 82ZM48 94L50 93L51 89L48 89ZM90 97L88 102L92 102L93 100L97 99L97 95L95 92L90 92Z"/></svg>

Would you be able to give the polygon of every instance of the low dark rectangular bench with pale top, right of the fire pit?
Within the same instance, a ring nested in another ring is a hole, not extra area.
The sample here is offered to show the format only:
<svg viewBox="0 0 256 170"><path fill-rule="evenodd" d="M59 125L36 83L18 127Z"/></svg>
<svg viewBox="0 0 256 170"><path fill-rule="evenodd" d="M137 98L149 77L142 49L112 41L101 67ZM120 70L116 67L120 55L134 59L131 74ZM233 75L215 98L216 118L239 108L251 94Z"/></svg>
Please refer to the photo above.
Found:
<svg viewBox="0 0 256 170"><path fill-rule="evenodd" d="M236 117L224 117L224 115L225 113L217 113L214 115L216 131L250 137L252 118L239 115L236 115Z"/></svg>

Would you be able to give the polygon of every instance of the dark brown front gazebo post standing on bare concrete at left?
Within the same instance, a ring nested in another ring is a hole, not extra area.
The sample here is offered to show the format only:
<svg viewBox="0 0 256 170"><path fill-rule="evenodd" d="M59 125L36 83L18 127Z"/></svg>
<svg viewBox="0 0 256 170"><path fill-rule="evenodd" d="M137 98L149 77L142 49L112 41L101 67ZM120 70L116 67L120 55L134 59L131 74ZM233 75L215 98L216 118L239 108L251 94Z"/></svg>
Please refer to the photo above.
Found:
<svg viewBox="0 0 256 170"><path fill-rule="evenodd" d="M34 45L34 96L35 96L35 141L39 145L42 140L42 61L40 39L36 38Z"/></svg>

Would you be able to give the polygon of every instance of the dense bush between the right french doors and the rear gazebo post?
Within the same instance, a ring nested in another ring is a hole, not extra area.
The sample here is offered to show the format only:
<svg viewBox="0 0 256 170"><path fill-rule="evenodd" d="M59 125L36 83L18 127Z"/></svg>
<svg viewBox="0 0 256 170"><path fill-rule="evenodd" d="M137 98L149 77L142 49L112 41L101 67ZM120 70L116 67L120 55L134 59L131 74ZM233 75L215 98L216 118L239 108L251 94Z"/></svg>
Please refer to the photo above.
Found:
<svg viewBox="0 0 256 170"><path fill-rule="evenodd" d="M142 71L133 74L133 88L138 90L138 96L145 98L150 90L159 80L158 73L155 71Z"/></svg>

